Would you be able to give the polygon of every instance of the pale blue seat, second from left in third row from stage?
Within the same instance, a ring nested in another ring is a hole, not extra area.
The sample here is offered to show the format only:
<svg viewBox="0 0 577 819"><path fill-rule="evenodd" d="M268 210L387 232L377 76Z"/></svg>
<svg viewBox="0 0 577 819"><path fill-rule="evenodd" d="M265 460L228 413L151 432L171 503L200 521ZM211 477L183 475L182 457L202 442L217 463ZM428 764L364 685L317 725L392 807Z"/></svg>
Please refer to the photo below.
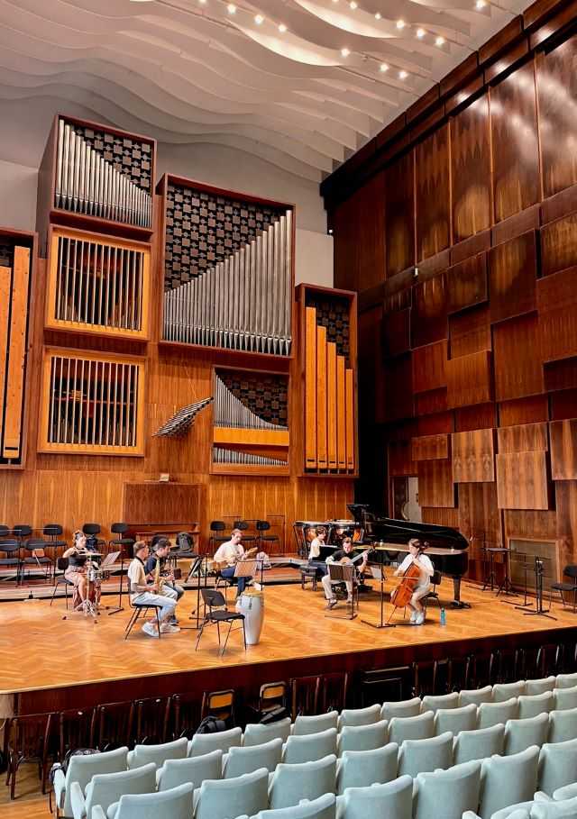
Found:
<svg viewBox="0 0 577 819"><path fill-rule="evenodd" d="M269 806L268 785L266 768L234 779L205 779L195 793L195 819L232 819L257 814Z"/></svg>

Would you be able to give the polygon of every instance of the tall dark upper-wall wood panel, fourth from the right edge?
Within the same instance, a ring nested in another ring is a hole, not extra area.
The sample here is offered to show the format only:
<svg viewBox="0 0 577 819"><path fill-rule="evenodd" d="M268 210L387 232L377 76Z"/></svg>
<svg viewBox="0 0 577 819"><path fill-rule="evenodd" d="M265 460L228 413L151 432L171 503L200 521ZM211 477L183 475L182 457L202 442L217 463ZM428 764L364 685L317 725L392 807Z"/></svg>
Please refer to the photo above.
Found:
<svg viewBox="0 0 577 819"><path fill-rule="evenodd" d="M449 126L444 125L415 150L417 261L435 256L450 243Z"/></svg>

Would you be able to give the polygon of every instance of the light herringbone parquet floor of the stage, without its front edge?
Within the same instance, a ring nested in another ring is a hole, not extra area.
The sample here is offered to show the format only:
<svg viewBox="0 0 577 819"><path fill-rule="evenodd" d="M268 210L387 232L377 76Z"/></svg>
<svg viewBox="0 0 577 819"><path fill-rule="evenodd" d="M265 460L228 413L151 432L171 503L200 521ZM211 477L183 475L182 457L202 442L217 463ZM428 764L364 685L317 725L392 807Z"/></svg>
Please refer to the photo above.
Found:
<svg viewBox="0 0 577 819"><path fill-rule="evenodd" d="M377 584L375 584L376 587ZM387 588L391 587L387 582ZM325 616L325 599L320 590L300 586L265 588L265 623L261 642L241 648L241 635L231 636L224 658L218 656L214 626L206 630L199 651L194 650L196 631L167 635L160 642L134 630L124 641L124 626L130 612L108 616L105 612L94 622L83 615L66 614L64 602L50 607L46 600L0 604L0 694L38 689L76 687L111 683L121 679L151 678L179 672L233 669L239 666L270 663L279 660L334 658L354 652L385 651L403 647L417 648L452 642L470 642L505 635L546 632L574 628L577 616L570 609L554 606L556 621L545 617L523 616L505 599L480 587L464 583L463 600L470 609L453 610L453 584L444 580L439 587L446 604L447 623L440 625L436 605L429 606L427 622L411 627L404 623L402 611L393 622L394 629L372 629L363 619L376 622L380 615L379 596L362 596L356 620ZM103 598L114 605L114 598ZM188 591L179 604L181 625L191 625L188 614L196 605L197 595ZM522 602L519 599L518 602ZM385 616L389 615L388 598ZM333 614L344 614L340 604ZM546 642L546 638L543 639ZM444 651L450 653L449 648ZM234 678L231 678L234 684Z"/></svg>

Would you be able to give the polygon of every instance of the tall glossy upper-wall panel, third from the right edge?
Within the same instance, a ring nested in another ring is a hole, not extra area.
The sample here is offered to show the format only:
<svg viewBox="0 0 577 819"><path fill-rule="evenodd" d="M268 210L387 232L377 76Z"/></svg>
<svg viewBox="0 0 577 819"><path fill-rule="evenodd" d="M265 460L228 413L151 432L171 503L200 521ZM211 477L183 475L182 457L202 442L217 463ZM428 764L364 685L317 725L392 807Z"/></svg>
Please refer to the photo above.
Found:
<svg viewBox="0 0 577 819"><path fill-rule="evenodd" d="M489 99L483 95L451 120L453 242L491 223Z"/></svg>

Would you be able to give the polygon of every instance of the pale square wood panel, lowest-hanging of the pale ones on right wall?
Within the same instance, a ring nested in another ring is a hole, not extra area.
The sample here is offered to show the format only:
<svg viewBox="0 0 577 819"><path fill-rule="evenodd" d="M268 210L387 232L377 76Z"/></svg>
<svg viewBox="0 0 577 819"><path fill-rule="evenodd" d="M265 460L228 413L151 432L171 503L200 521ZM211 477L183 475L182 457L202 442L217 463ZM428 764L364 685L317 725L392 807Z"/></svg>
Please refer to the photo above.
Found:
<svg viewBox="0 0 577 819"><path fill-rule="evenodd" d="M499 509L548 509L545 452L507 452L497 455Z"/></svg>

